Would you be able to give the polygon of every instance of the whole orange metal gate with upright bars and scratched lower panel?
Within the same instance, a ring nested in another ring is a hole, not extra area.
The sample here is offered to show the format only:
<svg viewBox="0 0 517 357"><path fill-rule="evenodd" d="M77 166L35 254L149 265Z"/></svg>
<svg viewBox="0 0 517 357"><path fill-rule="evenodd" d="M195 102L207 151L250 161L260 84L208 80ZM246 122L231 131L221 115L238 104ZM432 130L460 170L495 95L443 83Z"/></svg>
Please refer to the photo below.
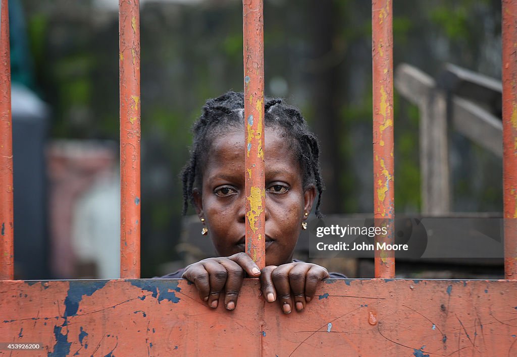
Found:
<svg viewBox="0 0 517 357"><path fill-rule="evenodd" d="M302 313L266 304L245 281L235 311L205 306L185 280L140 280L139 1L120 0L121 279L13 281L7 0L0 36L0 343L5 355L517 355L517 1L503 1L505 269L508 280L327 280ZM248 253L264 265L263 3L244 0ZM372 1L374 213L393 219L392 2ZM253 124L251 124L253 122ZM253 206L250 203L253 202ZM258 209L257 209L258 207ZM253 210L253 208L255 208ZM391 226L391 225L390 225ZM393 231L379 240L390 242Z"/></svg>

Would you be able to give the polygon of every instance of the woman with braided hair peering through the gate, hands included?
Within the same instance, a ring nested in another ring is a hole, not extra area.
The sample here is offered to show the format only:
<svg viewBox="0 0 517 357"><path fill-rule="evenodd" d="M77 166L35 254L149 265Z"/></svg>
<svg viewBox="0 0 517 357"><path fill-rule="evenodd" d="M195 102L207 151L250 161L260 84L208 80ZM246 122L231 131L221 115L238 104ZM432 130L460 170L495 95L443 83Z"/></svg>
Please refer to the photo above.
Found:
<svg viewBox="0 0 517 357"><path fill-rule="evenodd" d="M280 99L265 98L266 267L262 272L245 252L244 96L227 92L210 99L194 123L190 160L183 176L184 213L188 203L204 224L203 234L220 257L189 265L164 278L194 283L200 298L217 308L237 306L245 273L260 277L266 301L282 311L302 311L325 278L344 278L315 264L293 261L302 225L317 194L319 217L323 190L319 147L299 110Z"/></svg>

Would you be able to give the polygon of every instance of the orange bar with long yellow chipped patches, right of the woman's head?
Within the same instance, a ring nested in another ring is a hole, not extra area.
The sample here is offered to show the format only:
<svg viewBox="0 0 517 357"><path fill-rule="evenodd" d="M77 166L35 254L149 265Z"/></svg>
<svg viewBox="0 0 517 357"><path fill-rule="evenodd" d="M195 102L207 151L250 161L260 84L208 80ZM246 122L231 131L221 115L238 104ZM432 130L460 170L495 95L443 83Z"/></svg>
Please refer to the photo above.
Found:
<svg viewBox="0 0 517 357"><path fill-rule="evenodd" d="M393 13L391 0L372 0L374 218L387 226L375 243L393 243ZM377 244L375 244L377 247ZM392 250L375 250L375 277L393 278Z"/></svg>

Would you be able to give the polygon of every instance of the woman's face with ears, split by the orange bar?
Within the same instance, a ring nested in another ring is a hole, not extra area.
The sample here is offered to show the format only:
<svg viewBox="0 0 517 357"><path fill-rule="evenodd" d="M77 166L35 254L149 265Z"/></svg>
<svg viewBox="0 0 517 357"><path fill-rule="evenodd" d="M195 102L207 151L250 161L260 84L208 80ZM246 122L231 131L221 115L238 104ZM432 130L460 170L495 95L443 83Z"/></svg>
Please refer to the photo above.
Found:
<svg viewBox="0 0 517 357"><path fill-rule="evenodd" d="M289 263L316 190L303 190L302 172L288 139L265 129L266 266ZM203 170L203 187L194 189L197 214L221 256L245 251L244 131L214 139Z"/></svg>

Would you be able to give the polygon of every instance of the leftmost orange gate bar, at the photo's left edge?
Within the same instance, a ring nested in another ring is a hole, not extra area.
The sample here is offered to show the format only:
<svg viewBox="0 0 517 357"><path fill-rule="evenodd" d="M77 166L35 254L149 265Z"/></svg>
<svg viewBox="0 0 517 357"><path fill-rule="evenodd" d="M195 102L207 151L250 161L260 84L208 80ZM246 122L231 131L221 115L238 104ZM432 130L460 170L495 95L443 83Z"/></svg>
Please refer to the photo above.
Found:
<svg viewBox="0 0 517 357"><path fill-rule="evenodd" d="M8 0L0 9L0 280L14 278L11 58Z"/></svg>

